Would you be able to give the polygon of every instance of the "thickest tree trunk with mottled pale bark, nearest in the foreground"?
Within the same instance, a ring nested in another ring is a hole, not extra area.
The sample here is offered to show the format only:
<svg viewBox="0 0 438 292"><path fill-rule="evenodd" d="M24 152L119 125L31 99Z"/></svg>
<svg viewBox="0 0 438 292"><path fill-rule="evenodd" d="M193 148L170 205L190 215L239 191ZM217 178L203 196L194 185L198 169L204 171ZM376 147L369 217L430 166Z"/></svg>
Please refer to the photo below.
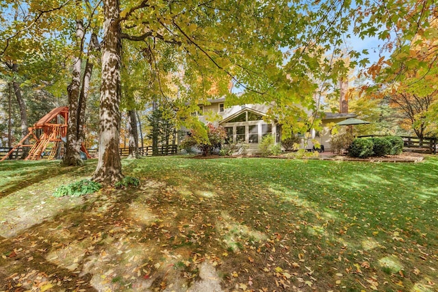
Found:
<svg viewBox="0 0 438 292"><path fill-rule="evenodd" d="M99 107L99 161L94 181L105 185L123 178L119 154L120 25L118 0L104 0L102 83Z"/></svg>

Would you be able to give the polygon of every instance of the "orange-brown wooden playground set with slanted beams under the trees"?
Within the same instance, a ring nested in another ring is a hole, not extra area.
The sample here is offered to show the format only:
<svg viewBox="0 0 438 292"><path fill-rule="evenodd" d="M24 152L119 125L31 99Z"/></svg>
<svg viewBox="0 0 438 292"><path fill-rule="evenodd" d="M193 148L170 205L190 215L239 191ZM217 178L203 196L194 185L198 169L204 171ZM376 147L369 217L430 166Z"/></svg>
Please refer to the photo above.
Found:
<svg viewBox="0 0 438 292"><path fill-rule="evenodd" d="M64 119L64 122L60 122L62 119ZM49 114L38 120L38 122L34 124L34 127L29 127L29 133L25 135L25 137L23 137L23 139L0 161L7 159L16 149L21 147L30 147L29 155L27 155L25 160L41 159L42 154L45 153L45 150L50 143L52 143L52 147L47 159L54 159L60 142L66 141L67 121L68 107L57 107L52 109ZM24 144L28 138L33 140L34 143ZM91 158L83 144L81 144L81 151L85 153L87 158Z"/></svg>

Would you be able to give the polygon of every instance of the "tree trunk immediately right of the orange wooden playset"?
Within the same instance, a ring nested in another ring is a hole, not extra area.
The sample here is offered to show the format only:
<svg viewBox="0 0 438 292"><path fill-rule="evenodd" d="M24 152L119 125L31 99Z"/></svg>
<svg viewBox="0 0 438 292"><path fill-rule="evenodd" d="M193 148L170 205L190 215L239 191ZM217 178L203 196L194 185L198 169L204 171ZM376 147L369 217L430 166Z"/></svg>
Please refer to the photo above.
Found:
<svg viewBox="0 0 438 292"><path fill-rule="evenodd" d="M79 155L81 144L78 142L78 108L79 108L79 93L81 90L81 55L82 55L82 40L84 36L83 22L81 19L76 20L76 42L79 51L73 64L73 72L71 83L67 87L68 93L68 123L67 123L67 143L62 165L82 165L83 161Z"/></svg>

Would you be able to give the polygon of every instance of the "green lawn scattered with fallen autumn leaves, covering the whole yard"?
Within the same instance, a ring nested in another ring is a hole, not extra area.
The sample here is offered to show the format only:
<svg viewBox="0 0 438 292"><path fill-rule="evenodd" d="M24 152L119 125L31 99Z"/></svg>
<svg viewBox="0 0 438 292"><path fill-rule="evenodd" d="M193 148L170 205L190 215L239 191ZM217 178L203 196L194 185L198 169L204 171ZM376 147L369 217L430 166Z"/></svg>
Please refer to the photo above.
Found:
<svg viewBox="0 0 438 292"><path fill-rule="evenodd" d="M438 289L435 157L149 157L123 161L139 187L51 196L95 165L0 164L0 291Z"/></svg>

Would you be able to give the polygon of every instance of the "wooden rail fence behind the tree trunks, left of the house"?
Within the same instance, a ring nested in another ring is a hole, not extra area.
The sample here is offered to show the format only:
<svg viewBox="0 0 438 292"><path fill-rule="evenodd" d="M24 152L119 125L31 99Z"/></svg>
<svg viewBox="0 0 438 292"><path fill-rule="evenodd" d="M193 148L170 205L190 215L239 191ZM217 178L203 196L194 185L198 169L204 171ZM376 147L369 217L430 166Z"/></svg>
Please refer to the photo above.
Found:
<svg viewBox="0 0 438 292"><path fill-rule="evenodd" d="M8 154L11 148L8 147L0 147L0 158ZM96 157L97 148L87 148L88 153L90 153L91 157ZM138 148L140 155L142 156L162 156L162 155L175 155L178 152L178 146L175 144L172 145L164 145L158 146L157 151L153 151L152 146L139 147ZM46 153L51 152L51 148L46 148L44 151ZM127 157L129 155L129 148L120 148L119 150L120 156ZM17 148L11 155L10 159L19 159L21 157L21 153L23 153L23 148Z"/></svg>

